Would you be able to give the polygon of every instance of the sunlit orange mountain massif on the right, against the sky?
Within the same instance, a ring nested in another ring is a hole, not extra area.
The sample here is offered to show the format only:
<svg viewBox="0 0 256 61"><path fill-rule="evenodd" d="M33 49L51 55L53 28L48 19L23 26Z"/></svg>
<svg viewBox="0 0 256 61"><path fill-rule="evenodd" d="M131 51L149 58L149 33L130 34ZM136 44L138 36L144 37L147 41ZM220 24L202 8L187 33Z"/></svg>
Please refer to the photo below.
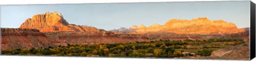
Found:
<svg viewBox="0 0 256 61"><path fill-rule="evenodd" d="M204 18L181 20L171 19L164 25L154 24L146 27L143 24L136 30L138 34L145 33L177 33L177 34L231 34L244 32L238 29L234 23L227 23L222 20L211 21Z"/></svg>

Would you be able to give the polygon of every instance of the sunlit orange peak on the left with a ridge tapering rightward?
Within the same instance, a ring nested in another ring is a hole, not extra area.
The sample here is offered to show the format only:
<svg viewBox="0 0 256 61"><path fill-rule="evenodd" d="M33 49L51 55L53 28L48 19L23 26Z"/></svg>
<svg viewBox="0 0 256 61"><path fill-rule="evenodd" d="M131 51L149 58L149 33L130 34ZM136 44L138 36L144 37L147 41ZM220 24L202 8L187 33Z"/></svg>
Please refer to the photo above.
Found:
<svg viewBox="0 0 256 61"><path fill-rule="evenodd" d="M21 24L20 28L34 28L40 32L99 32L95 27L69 24L62 14L57 12L34 15Z"/></svg>

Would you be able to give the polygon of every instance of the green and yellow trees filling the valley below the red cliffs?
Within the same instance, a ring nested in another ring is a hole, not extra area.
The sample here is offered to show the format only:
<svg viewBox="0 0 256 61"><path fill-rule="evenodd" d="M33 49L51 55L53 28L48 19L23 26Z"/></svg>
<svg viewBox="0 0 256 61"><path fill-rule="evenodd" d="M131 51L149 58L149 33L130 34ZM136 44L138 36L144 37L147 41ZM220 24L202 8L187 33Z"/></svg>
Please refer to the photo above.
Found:
<svg viewBox="0 0 256 61"><path fill-rule="evenodd" d="M205 40L156 40L151 42L115 43L115 44L76 44L68 46L2 50L3 55L53 55L53 56L102 56L102 57L182 57L188 45L213 42L244 43L243 39L205 39ZM234 44L234 45L237 45ZM210 56L213 50L204 46L196 55ZM217 47L215 47L217 48Z"/></svg>

